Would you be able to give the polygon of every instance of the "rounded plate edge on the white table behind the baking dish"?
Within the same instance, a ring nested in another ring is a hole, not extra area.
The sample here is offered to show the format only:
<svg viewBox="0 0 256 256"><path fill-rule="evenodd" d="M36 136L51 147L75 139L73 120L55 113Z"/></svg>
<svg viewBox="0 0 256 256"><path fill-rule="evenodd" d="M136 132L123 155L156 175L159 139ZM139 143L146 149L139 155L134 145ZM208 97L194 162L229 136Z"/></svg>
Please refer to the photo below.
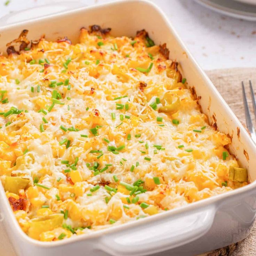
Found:
<svg viewBox="0 0 256 256"><path fill-rule="evenodd" d="M219 13L229 15L235 18L256 21L256 6L247 3L255 3L255 0L195 0L201 5L215 10ZM242 3L243 2L243 3ZM247 3L245 3L247 2Z"/></svg>

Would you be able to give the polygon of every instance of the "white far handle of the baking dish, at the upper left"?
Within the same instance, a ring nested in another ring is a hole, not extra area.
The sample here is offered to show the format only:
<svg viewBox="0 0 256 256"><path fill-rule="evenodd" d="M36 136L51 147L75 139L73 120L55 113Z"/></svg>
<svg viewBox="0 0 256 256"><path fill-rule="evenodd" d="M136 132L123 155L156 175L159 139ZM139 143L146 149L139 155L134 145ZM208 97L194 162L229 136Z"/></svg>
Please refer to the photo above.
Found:
<svg viewBox="0 0 256 256"><path fill-rule="evenodd" d="M63 13L67 10L73 10L80 8L82 6L81 2L69 1L69 2L53 2L49 5L42 5L37 7L32 7L29 9L14 11L0 18L0 27L7 26L13 23L18 23L22 21L27 21L29 19L42 18L44 16L49 16L52 14Z"/></svg>

